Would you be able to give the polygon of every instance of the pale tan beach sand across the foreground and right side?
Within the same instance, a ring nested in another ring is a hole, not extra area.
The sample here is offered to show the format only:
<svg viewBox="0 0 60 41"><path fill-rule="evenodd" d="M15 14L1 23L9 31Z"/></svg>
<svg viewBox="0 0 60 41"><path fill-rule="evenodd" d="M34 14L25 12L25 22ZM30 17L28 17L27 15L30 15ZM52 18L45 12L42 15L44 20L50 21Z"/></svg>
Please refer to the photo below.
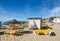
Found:
<svg viewBox="0 0 60 41"><path fill-rule="evenodd" d="M33 33L15 35L0 35L0 41L60 41L60 24L52 26L56 36L35 35Z"/></svg>

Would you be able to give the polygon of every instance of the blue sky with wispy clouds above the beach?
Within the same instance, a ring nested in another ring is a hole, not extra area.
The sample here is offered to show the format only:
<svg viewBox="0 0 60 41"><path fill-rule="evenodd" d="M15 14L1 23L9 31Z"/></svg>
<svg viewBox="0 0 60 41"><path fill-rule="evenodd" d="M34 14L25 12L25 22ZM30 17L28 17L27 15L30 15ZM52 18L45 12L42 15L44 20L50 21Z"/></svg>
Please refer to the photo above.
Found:
<svg viewBox="0 0 60 41"><path fill-rule="evenodd" d="M60 0L0 0L0 19L26 21L30 17L60 15Z"/></svg>

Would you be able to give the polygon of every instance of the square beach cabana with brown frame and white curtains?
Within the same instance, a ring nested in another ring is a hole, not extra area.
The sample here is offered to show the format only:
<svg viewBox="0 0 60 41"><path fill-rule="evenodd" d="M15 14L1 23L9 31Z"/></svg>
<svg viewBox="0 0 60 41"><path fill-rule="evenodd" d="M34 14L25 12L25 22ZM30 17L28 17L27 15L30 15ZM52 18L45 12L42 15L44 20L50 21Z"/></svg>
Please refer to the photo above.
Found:
<svg viewBox="0 0 60 41"><path fill-rule="evenodd" d="M42 18L28 18L28 27L29 28L38 28L42 26Z"/></svg>

